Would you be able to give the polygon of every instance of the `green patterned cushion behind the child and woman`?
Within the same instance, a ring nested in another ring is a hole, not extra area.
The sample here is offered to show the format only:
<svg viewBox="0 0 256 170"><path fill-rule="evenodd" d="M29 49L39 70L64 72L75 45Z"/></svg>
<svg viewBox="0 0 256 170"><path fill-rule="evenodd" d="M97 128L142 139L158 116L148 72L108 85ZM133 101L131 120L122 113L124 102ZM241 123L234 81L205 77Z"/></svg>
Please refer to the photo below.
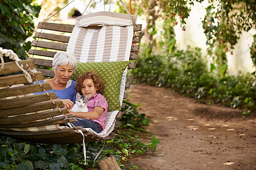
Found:
<svg viewBox="0 0 256 170"><path fill-rule="evenodd" d="M76 81L77 77L86 71L97 71L106 82L103 96L108 101L108 112L120 111L121 103L119 95L121 79L123 71L128 65L129 61L77 63L77 69L71 79Z"/></svg>

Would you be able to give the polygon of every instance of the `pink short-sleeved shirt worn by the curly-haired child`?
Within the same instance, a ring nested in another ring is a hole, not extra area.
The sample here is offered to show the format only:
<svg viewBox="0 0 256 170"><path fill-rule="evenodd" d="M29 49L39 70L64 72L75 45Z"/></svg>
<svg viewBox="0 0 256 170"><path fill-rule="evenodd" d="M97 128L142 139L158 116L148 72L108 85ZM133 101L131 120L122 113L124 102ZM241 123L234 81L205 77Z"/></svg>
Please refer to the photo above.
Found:
<svg viewBox="0 0 256 170"><path fill-rule="evenodd" d="M87 108L88 112L92 112L95 107L102 107L104 108L104 112L101 114L101 116L97 120L92 120L94 122L97 122L101 125L101 130L104 130L105 125L104 122L106 120L106 113L108 112L108 102L106 101L105 97L101 94L95 94L88 100Z"/></svg>

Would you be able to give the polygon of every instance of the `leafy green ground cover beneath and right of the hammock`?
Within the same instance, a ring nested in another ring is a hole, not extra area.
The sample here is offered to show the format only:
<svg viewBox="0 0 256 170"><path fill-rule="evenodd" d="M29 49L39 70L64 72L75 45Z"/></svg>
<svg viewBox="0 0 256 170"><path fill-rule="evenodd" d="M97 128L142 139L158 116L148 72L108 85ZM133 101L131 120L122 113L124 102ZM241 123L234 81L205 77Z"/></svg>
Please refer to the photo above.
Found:
<svg viewBox="0 0 256 170"><path fill-rule="evenodd" d="M149 120L145 114L139 114L138 105L125 101L127 106L122 109L124 113L121 128L115 129L113 141L106 141L104 150L98 159L114 156L117 162L126 169L127 159L134 154L145 154L155 151L159 144L158 139L152 135L151 141L142 143L139 134L148 126ZM149 137L148 137L149 138ZM82 154L81 143L69 145L47 145L19 141L10 137L0 137L0 169L88 169L94 168L93 163L102 142L86 143L86 165ZM132 166L132 165L131 165Z"/></svg>

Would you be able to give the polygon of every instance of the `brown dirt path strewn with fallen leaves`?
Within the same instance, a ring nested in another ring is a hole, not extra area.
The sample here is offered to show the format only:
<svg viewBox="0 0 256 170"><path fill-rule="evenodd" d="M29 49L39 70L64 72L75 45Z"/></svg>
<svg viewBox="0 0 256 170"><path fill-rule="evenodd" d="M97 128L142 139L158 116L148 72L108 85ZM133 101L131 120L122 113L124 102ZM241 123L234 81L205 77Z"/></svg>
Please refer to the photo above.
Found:
<svg viewBox="0 0 256 170"><path fill-rule="evenodd" d="M140 169L256 169L256 118L197 103L166 88L135 84L129 101L141 103L146 129L159 139L156 154L131 160ZM145 139L146 140L146 139Z"/></svg>

